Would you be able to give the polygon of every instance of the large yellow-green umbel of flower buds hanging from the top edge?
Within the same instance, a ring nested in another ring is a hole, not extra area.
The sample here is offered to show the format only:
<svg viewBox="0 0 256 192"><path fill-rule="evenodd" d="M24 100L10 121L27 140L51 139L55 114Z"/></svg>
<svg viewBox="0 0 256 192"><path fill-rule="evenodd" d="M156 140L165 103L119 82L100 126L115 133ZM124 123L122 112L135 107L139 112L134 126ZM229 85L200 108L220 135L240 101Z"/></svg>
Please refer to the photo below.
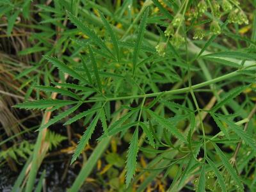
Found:
<svg viewBox="0 0 256 192"><path fill-rule="evenodd" d="M209 23L209 32L206 32L204 28L196 27L193 39L202 40L206 34L209 35L220 35L221 34L221 17L227 15L228 23L235 24L248 24L248 18L243 10L239 7L239 1L237 0L196 0L189 4L190 7L186 7L183 4L180 5L180 10L177 11L173 17L172 22L164 31L164 36L170 40L170 44L175 48L179 48L185 43L184 36L180 35L180 26L184 23L190 22L191 24L204 23L206 12L212 13L212 21ZM204 15L205 14L205 15ZM226 18L226 17L225 17ZM207 23L207 22L205 22ZM208 24L207 24L208 25ZM159 55L164 56L166 43L162 43L156 46L156 51Z"/></svg>

